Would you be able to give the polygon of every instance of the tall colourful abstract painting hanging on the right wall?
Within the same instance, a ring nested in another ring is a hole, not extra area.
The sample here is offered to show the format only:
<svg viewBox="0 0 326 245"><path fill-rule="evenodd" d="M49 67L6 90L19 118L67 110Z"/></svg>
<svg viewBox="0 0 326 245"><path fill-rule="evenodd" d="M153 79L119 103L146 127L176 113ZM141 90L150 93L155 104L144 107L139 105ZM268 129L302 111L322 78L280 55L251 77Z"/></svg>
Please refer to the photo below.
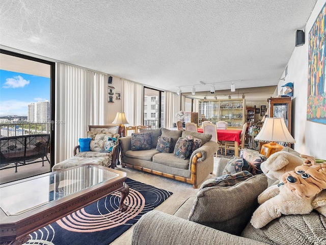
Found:
<svg viewBox="0 0 326 245"><path fill-rule="evenodd" d="M310 32L307 120L326 124L326 4Z"/></svg>

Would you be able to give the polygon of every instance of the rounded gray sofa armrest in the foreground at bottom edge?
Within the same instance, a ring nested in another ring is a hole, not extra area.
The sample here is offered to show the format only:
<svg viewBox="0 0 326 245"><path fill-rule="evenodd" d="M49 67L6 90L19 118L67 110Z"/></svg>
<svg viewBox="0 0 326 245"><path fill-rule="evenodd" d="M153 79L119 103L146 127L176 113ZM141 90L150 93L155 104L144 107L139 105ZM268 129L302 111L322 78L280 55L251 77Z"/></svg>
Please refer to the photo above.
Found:
<svg viewBox="0 0 326 245"><path fill-rule="evenodd" d="M135 224L132 245L140 244L267 244L215 230L160 211L144 214Z"/></svg>

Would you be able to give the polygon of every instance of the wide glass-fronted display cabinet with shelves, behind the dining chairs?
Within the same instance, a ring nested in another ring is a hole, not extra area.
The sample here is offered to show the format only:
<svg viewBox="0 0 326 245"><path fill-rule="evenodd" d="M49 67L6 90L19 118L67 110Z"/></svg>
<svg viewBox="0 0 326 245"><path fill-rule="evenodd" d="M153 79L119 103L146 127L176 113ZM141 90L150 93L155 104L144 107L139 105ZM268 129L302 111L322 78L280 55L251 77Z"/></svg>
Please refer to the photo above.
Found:
<svg viewBox="0 0 326 245"><path fill-rule="evenodd" d="M199 101L199 125L203 121L226 121L228 129L242 129L246 121L244 99Z"/></svg>

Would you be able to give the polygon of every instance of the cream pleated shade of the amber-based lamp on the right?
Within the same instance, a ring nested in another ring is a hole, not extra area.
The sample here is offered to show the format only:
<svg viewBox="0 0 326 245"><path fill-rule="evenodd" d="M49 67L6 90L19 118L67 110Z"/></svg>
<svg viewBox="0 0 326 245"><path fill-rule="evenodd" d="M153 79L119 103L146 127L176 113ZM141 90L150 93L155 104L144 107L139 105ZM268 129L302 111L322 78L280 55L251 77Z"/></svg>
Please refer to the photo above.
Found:
<svg viewBox="0 0 326 245"><path fill-rule="evenodd" d="M288 131L283 118L265 117L263 127L255 140L265 142L295 143L294 138Z"/></svg>

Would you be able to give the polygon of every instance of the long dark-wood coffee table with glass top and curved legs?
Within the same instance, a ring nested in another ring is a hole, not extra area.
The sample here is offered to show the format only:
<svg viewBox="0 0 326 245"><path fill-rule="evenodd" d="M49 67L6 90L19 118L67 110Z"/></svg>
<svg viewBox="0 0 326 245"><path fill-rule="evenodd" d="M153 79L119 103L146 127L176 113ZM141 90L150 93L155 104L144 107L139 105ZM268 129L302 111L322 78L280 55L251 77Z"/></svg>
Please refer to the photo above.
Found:
<svg viewBox="0 0 326 245"><path fill-rule="evenodd" d="M122 171L85 164L0 185L0 243L24 243L31 232L117 190L123 204L126 178Z"/></svg>

